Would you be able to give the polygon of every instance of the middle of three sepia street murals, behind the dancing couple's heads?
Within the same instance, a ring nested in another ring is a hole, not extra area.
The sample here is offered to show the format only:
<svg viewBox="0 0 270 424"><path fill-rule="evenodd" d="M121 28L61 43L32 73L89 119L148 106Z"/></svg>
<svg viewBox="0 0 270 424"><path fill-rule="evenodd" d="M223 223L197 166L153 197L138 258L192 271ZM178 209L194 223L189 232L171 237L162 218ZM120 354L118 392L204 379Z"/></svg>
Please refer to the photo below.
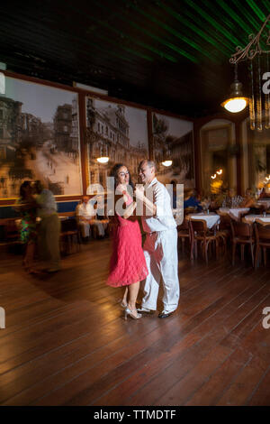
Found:
<svg viewBox="0 0 270 424"><path fill-rule="evenodd" d="M136 183L139 161L148 158L146 110L87 97L86 123L89 184L105 187L115 163L126 165ZM109 157L109 162L98 163L101 156Z"/></svg>

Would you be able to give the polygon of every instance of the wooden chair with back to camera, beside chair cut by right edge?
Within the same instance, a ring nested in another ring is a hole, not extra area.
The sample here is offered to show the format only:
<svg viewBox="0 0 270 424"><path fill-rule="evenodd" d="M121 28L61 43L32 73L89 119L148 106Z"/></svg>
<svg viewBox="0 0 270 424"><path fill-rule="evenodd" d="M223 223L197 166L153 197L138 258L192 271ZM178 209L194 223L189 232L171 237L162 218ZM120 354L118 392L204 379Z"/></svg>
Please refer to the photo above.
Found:
<svg viewBox="0 0 270 424"><path fill-rule="evenodd" d="M253 248L255 244L255 238L253 236L253 225L244 222L238 222L231 219L230 226L232 235L232 264L234 265L235 263L235 253L237 244L240 244L241 246L241 261L244 260L245 245L249 244L252 265L254 266Z"/></svg>

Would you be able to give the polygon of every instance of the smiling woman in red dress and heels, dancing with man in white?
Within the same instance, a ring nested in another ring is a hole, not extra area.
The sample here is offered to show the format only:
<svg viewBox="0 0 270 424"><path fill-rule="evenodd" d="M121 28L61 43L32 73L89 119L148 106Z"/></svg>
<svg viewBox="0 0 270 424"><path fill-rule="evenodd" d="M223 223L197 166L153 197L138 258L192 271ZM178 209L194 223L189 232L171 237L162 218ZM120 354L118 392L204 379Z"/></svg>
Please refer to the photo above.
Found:
<svg viewBox="0 0 270 424"><path fill-rule="evenodd" d="M136 207L130 196L133 185L130 172L121 163L114 165L111 176L114 178L116 211L112 230L112 257L107 284L112 287L126 287L121 306L125 308L125 318L138 319L136 300L139 292L139 281L148 275L148 268L141 247L139 223L132 216ZM123 213L118 210L123 205Z"/></svg>

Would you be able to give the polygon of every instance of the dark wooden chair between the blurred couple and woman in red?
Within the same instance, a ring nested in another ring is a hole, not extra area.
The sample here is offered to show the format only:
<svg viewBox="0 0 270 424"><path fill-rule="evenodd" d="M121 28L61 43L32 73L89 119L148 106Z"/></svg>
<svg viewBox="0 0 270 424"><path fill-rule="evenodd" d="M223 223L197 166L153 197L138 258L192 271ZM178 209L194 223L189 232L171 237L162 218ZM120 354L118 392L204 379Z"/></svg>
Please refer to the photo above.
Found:
<svg viewBox="0 0 270 424"><path fill-rule="evenodd" d="M64 253L73 253L75 245L76 252L81 250L81 235L75 218L61 221L60 241L63 244L63 249L61 250Z"/></svg>

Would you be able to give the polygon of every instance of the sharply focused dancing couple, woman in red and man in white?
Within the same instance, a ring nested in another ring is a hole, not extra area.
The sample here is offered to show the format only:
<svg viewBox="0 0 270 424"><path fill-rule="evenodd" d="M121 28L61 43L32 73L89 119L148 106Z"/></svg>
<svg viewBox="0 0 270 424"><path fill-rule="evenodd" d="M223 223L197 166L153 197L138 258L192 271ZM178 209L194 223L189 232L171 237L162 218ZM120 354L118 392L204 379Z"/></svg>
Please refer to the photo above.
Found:
<svg viewBox="0 0 270 424"><path fill-rule="evenodd" d="M125 287L121 306L125 318L141 318L141 312L150 313L157 309L159 283L163 281L163 310L158 318L173 314L180 295L178 281L177 231L166 187L157 181L156 165L153 161L139 163L139 180L143 187L135 189L135 198L143 205L141 223L146 240L141 246L139 217L132 194L134 186L130 172L123 164L112 169L114 178L115 204L123 202L124 212L113 217L112 257L107 284ZM151 196L149 196L151 193ZM136 309L139 283L144 282L144 297L140 309Z"/></svg>

